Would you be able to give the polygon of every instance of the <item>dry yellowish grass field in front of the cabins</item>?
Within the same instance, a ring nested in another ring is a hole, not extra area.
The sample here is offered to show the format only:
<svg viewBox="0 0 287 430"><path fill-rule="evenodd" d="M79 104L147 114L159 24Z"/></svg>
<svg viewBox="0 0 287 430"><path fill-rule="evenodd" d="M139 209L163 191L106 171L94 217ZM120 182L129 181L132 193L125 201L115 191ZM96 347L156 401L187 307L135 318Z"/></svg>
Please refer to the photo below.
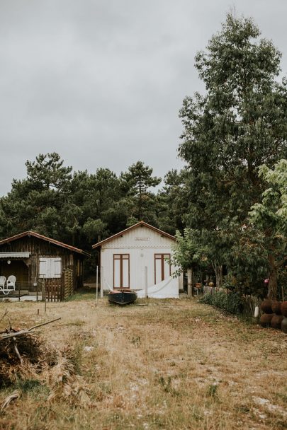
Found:
<svg viewBox="0 0 287 430"><path fill-rule="evenodd" d="M140 306L142 305L142 306ZM0 303L14 327L69 346L83 401L35 380L0 391L0 429L286 429L287 336L186 298L120 308L91 294L64 303ZM40 314L38 315L38 309ZM0 322L0 331L9 322Z"/></svg>

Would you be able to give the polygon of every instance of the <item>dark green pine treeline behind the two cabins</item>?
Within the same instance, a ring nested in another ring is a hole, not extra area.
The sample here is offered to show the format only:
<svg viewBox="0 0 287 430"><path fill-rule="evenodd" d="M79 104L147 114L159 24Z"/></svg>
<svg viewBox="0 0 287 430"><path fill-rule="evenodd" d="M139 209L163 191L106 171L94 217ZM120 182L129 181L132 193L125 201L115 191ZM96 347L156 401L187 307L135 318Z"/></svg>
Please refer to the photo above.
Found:
<svg viewBox="0 0 287 430"><path fill-rule="evenodd" d="M140 220L171 234L182 230L181 217L173 213L176 171L167 173L155 193L161 178L141 161L117 176L107 168L74 172L58 153L47 153L27 161L26 168L27 177L13 180L0 200L1 238L33 230L90 250Z"/></svg>

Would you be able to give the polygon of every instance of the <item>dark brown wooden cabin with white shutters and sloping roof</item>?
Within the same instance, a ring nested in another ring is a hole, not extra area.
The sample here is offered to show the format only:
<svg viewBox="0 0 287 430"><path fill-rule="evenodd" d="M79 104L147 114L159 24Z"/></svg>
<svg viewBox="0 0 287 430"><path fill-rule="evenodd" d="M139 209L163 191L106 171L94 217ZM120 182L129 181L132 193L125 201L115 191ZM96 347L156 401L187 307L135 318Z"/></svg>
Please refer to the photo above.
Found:
<svg viewBox="0 0 287 430"><path fill-rule="evenodd" d="M43 279L60 286L69 271L72 290L83 286L83 261L88 252L26 231L0 240L0 275L16 277L16 291L39 291ZM60 287L59 287L60 288Z"/></svg>

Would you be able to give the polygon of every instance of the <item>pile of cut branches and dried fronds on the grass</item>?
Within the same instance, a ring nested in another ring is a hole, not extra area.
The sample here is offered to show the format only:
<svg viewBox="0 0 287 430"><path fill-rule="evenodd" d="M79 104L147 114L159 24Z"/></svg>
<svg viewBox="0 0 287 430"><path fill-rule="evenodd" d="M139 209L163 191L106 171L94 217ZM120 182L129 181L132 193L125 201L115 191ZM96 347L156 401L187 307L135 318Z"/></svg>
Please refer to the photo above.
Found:
<svg viewBox="0 0 287 430"><path fill-rule="evenodd" d="M5 316L6 313L0 322ZM15 385L18 380L38 380L49 388L48 400L65 397L68 402L76 400L89 405L86 384L73 364L72 348L66 347L60 351L47 346L45 340L34 332L35 328L56 320L25 330L12 328L9 320L9 328L0 332L0 389ZM16 390L3 405L6 407L20 395Z"/></svg>

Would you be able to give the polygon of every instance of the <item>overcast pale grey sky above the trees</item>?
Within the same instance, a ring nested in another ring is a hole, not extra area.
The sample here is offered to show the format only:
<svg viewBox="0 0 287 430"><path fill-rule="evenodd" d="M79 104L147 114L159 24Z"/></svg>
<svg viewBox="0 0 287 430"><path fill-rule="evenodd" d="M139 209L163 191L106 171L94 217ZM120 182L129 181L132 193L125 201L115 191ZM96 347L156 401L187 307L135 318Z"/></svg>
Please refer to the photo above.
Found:
<svg viewBox="0 0 287 430"><path fill-rule="evenodd" d="M90 173L180 168L178 112L203 91L194 55L233 6L286 74L286 0L0 0L0 196L38 153Z"/></svg>

